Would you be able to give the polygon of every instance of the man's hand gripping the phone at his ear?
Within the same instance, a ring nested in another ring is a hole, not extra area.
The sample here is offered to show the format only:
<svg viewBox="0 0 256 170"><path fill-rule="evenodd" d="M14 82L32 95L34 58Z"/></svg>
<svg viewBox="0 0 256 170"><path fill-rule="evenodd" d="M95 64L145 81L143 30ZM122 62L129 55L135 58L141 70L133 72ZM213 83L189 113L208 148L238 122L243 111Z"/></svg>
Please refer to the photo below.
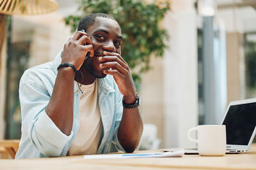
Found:
<svg viewBox="0 0 256 170"><path fill-rule="evenodd" d="M65 44L61 63L68 62L79 70L88 52L90 52L90 57L93 57L94 51L90 36L86 32L77 31Z"/></svg>

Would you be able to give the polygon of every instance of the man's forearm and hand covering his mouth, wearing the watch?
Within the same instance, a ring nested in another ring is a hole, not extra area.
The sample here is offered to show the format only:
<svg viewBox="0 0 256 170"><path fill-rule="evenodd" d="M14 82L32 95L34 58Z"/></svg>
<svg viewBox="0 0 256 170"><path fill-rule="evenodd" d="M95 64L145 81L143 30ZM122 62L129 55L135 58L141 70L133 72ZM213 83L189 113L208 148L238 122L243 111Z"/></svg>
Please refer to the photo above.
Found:
<svg viewBox="0 0 256 170"><path fill-rule="evenodd" d="M104 69L103 73L113 76L126 104L134 103L136 101L136 89L127 62L118 52L104 51L103 54L104 57L99 57L99 61L103 63L100 64L100 68ZM133 152L137 148L142 131L143 123L138 108L124 108L117 137L126 152Z"/></svg>

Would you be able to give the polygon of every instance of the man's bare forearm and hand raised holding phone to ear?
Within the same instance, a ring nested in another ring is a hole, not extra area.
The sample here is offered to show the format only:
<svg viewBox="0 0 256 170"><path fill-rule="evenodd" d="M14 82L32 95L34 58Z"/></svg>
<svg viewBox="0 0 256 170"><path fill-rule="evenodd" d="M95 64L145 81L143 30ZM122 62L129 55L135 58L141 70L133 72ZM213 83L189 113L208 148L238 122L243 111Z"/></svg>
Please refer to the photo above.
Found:
<svg viewBox="0 0 256 170"><path fill-rule="evenodd" d="M84 43L88 45L84 46ZM94 55L92 40L87 33L77 31L65 44L61 63L67 62L79 70L88 52ZM73 125L74 78L72 67L60 67L51 100L45 109L52 122L66 135L70 134Z"/></svg>

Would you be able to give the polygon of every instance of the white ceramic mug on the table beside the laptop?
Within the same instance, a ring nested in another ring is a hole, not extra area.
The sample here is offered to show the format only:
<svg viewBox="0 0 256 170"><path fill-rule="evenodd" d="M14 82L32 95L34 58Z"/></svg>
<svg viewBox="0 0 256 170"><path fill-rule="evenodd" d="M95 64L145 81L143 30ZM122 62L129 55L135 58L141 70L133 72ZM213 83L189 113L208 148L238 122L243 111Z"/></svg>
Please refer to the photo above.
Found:
<svg viewBox="0 0 256 170"><path fill-rule="evenodd" d="M197 131L197 139L191 138L191 132ZM204 156L220 156L226 153L225 125L198 125L188 131L189 141L197 143L198 153Z"/></svg>

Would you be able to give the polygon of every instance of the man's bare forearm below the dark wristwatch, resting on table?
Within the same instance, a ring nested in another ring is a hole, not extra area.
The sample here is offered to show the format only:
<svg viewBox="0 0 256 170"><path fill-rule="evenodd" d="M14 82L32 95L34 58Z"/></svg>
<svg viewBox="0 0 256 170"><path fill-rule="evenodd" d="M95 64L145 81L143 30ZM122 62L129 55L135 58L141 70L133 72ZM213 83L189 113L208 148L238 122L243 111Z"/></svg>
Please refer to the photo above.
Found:
<svg viewBox="0 0 256 170"><path fill-rule="evenodd" d="M118 141L126 152L133 152L140 143L143 123L138 108L124 108L122 120L118 129Z"/></svg>

